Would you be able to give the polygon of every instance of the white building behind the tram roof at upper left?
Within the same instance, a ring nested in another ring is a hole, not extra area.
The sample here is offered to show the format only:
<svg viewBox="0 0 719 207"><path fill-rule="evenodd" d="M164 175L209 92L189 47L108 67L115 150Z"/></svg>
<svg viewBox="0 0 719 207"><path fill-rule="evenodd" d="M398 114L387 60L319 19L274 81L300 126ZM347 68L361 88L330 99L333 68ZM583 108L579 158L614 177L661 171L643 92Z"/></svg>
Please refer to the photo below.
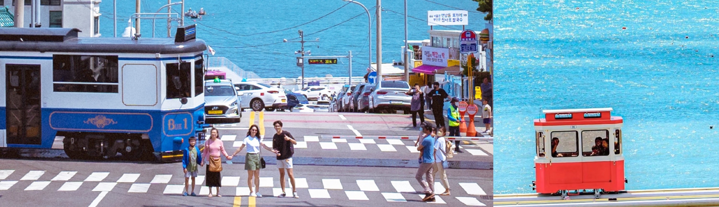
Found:
<svg viewBox="0 0 719 207"><path fill-rule="evenodd" d="M14 13L17 0L0 0L0 6L6 6ZM79 37L100 37L101 0L24 0L24 25L31 27L32 3L40 3L40 27L77 28L82 32Z"/></svg>

